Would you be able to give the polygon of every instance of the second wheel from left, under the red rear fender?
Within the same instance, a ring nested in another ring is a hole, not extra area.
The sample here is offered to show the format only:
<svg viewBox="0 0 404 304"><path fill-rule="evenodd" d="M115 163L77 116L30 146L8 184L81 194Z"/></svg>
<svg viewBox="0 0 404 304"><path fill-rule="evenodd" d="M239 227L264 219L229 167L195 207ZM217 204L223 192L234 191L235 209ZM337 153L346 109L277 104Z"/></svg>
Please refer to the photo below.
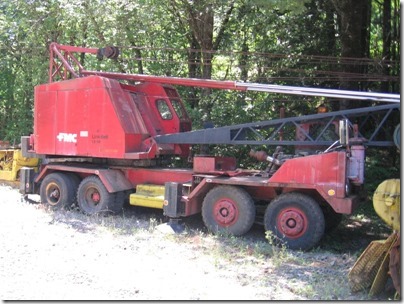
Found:
<svg viewBox="0 0 404 304"><path fill-rule="evenodd" d="M109 193L98 176L90 175L82 180L77 190L80 210L87 215L114 213L115 194Z"/></svg>

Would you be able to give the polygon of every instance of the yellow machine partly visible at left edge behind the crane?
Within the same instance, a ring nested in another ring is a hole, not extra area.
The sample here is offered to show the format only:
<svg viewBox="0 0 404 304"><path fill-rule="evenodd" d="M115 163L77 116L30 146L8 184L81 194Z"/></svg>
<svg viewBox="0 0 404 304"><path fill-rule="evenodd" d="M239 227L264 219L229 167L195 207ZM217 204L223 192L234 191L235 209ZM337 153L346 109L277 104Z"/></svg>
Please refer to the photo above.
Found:
<svg viewBox="0 0 404 304"><path fill-rule="evenodd" d="M38 170L39 159L23 157L20 149L0 150L0 179L15 181L22 167L32 167Z"/></svg>

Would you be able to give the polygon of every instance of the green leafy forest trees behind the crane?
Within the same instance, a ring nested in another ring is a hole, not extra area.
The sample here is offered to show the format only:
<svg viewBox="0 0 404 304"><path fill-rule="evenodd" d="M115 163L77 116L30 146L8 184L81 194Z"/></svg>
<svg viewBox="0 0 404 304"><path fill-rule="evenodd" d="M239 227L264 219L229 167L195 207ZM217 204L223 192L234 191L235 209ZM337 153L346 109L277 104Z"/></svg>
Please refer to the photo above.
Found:
<svg viewBox="0 0 404 304"><path fill-rule="evenodd" d="M5 0L0 3L0 139L32 133L49 44L120 47L87 69L400 92L399 0ZM193 128L369 106L369 102L178 87ZM395 126L391 126L394 129ZM216 152L244 161L247 148ZM244 157L243 157L244 155ZM400 176L396 148L367 151L370 189ZM377 176L377 178L375 178ZM374 184L374 185L373 185Z"/></svg>

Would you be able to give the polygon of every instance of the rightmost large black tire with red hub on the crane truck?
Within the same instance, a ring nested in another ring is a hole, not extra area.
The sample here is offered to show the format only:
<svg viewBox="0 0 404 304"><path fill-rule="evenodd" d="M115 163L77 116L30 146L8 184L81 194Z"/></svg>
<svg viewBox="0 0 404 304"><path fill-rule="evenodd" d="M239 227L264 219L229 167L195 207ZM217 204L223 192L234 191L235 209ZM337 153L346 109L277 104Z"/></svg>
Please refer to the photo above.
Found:
<svg viewBox="0 0 404 304"><path fill-rule="evenodd" d="M270 202L264 225L281 244L293 250L313 248L325 230L320 206L311 197L298 192L281 194Z"/></svg>

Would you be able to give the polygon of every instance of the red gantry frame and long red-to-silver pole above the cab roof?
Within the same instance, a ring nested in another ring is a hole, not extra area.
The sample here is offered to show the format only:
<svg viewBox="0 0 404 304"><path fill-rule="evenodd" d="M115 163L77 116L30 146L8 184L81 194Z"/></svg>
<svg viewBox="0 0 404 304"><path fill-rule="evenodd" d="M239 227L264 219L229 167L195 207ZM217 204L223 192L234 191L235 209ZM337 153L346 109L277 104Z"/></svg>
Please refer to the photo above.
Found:
<svg viewBox="0 0 404 304"><path fill-rule="evenodd" d="M51 59L49 67L49 82L53 82L57 75L61 76L62 79L67 79L67 74L69 72L75 78L90 75L98 75L107 78L128 80L135 82L155 82L155 83L165 83L171 85L192 86L192 87L211 88L211 89L258 91L258 92L280 93L291 95L321 96L321 97L331 97L339 99L400 103L400 95L390 93L91 71L84 69L84 67L80 64L79 60L77 60L77 58L74 56L73 53L77 52L97 55L98 58L101 57L116 58L119 53L119 51L113 47L96 49L96 48L73 47L52 43L50 45Z"/></svg>

